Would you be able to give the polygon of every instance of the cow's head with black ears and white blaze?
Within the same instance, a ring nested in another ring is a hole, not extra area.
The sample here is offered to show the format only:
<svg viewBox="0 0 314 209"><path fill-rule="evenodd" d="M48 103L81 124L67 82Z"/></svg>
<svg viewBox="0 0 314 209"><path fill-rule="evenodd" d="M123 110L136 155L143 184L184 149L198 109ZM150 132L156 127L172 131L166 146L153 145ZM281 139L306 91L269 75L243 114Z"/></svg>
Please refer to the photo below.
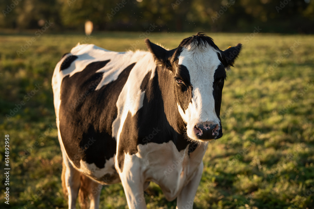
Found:
<svg viewBox="0 0 314 209"><path fill-rule="evenodd" d="M184 39L172 50L148 39L145 43L155 63L172 72L176 105L187 125L189 139L197 142L219 139L225 69L233 66L241 44L221 51L204 33Z"/></svg>

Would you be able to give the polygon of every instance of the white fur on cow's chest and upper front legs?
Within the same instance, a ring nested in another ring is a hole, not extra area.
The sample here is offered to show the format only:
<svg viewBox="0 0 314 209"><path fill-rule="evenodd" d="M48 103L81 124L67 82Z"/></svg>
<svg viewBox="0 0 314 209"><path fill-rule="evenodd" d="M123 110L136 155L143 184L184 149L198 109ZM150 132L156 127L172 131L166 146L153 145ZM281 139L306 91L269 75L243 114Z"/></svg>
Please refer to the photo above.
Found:
<svg viewBox="0 0 314 209"><path fill-rule="evenodd" d="M120 177L128 205L146 208L143 185L147 181L158 184L169 201L183 196L186 198L178 199L177 204L185 205L187 200L193 202L203 172L202 159L207 145L197 147L190 155L188 148L179 152L173 141L169 141L138 145L138 153L125 154Z"/></svg>

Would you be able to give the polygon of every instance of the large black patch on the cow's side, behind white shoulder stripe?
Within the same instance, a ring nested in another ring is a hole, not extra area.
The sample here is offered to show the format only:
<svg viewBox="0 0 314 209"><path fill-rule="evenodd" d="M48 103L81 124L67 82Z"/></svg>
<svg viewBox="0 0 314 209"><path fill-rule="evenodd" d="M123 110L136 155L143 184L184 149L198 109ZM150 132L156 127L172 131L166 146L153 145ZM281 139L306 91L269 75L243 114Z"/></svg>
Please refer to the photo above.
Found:
<svg viewBox="0 0 314 209"><path fill-rule="evenodd" d="M62 80L60 133L69 158L78 168L81 159L104 168L106 160L116 153L116 140L111 136L116 101L135 63L124 69L117 80L95 91L102 78L102 73L95 72L109 61L91 63Z"/></svg>

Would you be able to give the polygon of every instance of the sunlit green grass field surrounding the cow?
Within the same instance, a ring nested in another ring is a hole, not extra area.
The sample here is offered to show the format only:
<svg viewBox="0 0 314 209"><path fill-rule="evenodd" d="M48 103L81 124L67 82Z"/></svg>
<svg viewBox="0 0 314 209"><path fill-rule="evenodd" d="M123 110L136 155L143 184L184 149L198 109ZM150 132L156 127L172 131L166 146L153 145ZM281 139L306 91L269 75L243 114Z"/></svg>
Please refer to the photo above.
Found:
<svg viewBox="0 0 314 209"><path fill-rule="evenodd" d="M148 37L175 48L193 34ZM244 47L227 73L221 107L224 136L208 146L194 208L314 208L314 36L207 34L220 49L237 43ZM87 40L115 51L144 49L140 35L0 34L1 208L67 207L61 188L53 69L78 42ZM9 206L4 203L6 134ZM148 208L176 207L176 201L167 202L155 184L145 199ZM105 186L100 202L101 208L127 208L122 185Z"/></svg>

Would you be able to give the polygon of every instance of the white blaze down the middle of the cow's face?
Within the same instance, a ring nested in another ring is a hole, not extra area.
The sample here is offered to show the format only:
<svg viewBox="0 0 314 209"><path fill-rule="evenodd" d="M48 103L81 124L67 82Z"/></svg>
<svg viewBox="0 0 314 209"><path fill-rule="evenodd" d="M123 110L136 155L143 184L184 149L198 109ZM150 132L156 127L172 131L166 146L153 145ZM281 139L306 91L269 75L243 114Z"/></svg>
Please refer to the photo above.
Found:
<svg viewBox="0 0 314 209"><path fill-rule="evenodd" d="M187 123L188 137L195 140L197 139L193 134L193 128L196 124L206 121L219 124L215 112L213 83L215 70L221 62L216 49L208 44L203 47L201 45L183 48L178 63L186 66L189 71L193 97L185 113L180 105L177 105L182 119Z"/></svg>

